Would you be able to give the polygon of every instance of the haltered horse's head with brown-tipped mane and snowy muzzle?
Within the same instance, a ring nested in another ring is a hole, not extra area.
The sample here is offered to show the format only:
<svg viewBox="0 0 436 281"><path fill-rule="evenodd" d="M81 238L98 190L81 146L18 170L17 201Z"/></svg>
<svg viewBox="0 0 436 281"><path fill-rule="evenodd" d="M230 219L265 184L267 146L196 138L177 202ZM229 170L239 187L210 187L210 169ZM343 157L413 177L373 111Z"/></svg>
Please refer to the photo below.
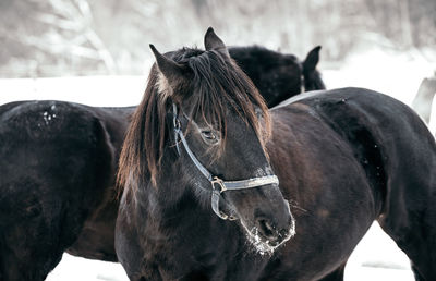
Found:
<svg viewBox="0 0 436 281"><path fill-rule="evenodd" d="M208 215L237 220L256 249L272 252L294 234L294 220L265 151L269 115L259 93L211 28L205 51L150 48L156 64L121 172L148 173L157 201L174 208L191 196Z"/></svg>

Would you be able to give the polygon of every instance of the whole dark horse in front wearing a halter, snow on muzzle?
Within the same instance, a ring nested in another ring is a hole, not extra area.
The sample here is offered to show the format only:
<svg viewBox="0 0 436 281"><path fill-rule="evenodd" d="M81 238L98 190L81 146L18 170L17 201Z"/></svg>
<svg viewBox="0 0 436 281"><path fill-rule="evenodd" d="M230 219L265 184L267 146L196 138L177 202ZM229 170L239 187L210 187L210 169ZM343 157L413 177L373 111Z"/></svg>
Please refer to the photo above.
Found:
<svg viewBox="0 0 436 281"><path fill-rule="evenodd" d="M152 47L120 158L131 280L342 280L374 220L434 280L436 145L420 118L367 89L320 90L272 109L265 138L256 89L211 29L205 47Z"/></svg>

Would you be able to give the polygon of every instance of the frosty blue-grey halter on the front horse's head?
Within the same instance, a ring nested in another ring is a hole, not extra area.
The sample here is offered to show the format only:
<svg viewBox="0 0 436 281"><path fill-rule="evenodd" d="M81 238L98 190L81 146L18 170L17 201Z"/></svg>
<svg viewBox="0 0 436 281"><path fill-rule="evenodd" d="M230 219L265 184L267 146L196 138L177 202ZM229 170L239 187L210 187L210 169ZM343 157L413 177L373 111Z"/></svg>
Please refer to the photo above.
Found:
<svg viewBox="0 0 436 281"><path fill-rule="evenodd" d="M206 169L206 167L204 167L198 161L198 159L195 157L195 155L190 149L190 146L187 145L186 139L184 138L184 135L183 135L183 132L181 129L181 122L178 117L175 103L172 103L172 110L173 110L174 138L175 138L177 150L178 150L179 155L181 155L180 147L179 147L179 138L180 138L180 140L183 144L184 149L186 150L191 160L194 162L195 167L210 182L210 185L211 185L211 199L210 199L211 209L218 217L220 217L223 220L227 220L227 219L235 220L235 218L228 216L219 210L219 199L221 197L221 193L223 193L226 191L247 190L247 188L258 187L258 186L267 185L267 184L279 184L279 180L276 175L257 176L257 178L252 178L252 179L241 180L241 181L223 181L219 176L213 175Z"/></svg>

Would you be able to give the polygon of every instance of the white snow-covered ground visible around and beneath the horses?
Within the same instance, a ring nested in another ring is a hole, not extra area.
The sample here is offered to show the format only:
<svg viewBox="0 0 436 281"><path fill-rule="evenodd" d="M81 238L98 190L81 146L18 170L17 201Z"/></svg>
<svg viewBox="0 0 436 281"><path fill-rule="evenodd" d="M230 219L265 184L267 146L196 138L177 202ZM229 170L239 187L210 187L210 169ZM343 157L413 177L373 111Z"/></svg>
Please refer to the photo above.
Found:
<svg viewBox="0 0 436 281"><path fill-rule="evenodd" d="M323 70L328 88L367 87L391 95L408 105L422 78L434 71L434 65L420 58L379 51L362 53L343 65L347 66ZM131 106L140 102L145 85L146 76L0 80L0 105L23 99L57 99L92 106ZM432 123L431 127L434 127ZM128 278L119 264L87 260L65 254L47 280L121 281ZM405 255L375 223L351 256L346 280L414 279Z"/></svg>

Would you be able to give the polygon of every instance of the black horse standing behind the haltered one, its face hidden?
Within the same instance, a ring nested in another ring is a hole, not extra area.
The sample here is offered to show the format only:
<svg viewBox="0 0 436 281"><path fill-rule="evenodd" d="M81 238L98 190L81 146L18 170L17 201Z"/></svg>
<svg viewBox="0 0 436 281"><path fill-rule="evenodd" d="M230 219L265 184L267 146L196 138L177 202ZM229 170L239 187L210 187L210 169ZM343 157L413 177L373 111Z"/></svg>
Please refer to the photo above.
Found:
<svg viewBox="0 0 436 281"><path fill-rule="evenodd" d="M300 83L279 89L274 77L302 82L301 71L313 69L313 78L304 82L319 85L318 51L299 62L259 47L231 50L255 85L270 84L279 93L264 95L267 102L275 98L274 103L301 89ZM267 56L268 63L256 59ZM61 101L0 106L0 280L44 280L65 251L117 261L114 175L134 109Z"/></svg>

